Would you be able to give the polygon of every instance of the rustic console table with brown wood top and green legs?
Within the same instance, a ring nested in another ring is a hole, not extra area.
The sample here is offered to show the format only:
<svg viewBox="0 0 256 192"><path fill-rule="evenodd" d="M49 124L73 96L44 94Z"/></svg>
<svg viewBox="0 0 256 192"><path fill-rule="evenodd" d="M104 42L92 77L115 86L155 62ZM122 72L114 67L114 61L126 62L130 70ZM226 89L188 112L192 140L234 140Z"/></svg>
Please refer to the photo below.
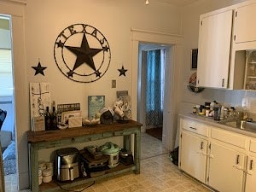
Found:
<svg viewBox="0 0 256 192"><path fill-rule="evenodd" d="M99 177L80 177L73 182L61 182L65 189L82 187L105 177L121 174L123 172L140 172L140 152L141 152L141 126L142 124L134 120L129 120L126 124L113 123L110 125L96 125L90 127L77 127L66 130L54 131L26 131L26 138L29 148L30 160L30 183L32 192L36 191L60 191L61 188L53 179L50 183L38 185L38 153L43 148L67 147L75 143L86 143L111 137L124 137L124 148L131 150L131 135L134 135L134 164L119 166L109 169L106 174ZM85 147L85 145L84 145Z"/></svg>

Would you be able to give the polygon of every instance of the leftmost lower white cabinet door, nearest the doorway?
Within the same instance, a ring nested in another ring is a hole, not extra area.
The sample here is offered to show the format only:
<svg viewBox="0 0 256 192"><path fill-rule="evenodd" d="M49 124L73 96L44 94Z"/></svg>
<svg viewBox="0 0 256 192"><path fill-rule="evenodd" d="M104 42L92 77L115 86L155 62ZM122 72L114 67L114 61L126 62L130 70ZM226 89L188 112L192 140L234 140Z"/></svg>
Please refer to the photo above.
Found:
<svg viewBox="0 0 256 192"><path fill-rule="evenodd" d="M207 140L183 131L181 138L181 169L205 183Z"/></svg>

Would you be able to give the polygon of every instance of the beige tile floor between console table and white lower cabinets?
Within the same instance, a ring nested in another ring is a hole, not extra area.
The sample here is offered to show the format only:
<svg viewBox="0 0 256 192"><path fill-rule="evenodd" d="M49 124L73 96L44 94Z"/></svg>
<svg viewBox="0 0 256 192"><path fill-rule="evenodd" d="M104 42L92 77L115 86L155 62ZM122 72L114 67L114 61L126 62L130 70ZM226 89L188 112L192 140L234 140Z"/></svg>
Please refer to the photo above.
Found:
<svg viewBox="0 0 256 192"><path fill-rule="evenodd" d="M150 143L150 144L148 144ZM15 175L5 177L6 192L16 192ZM161 146L161 141L142 134L141 173L127 173L96 182L83 192L209 192L185 176L169 159L169 152ZM30 192L30 190L22 190Z"/></svg>

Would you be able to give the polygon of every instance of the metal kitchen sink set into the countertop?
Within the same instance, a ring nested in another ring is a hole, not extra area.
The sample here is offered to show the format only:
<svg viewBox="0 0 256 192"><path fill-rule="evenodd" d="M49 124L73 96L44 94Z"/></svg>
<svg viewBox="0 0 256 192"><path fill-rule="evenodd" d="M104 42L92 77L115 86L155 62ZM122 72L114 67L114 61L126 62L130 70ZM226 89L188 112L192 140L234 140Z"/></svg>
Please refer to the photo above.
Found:
<svg viewBox="0 0 256 192"><path fill-rule="evenodd" d="M256 131L256 121L248 122L245 120L226 119L218 121L219 124L231 126L246 131Z"/></svg>

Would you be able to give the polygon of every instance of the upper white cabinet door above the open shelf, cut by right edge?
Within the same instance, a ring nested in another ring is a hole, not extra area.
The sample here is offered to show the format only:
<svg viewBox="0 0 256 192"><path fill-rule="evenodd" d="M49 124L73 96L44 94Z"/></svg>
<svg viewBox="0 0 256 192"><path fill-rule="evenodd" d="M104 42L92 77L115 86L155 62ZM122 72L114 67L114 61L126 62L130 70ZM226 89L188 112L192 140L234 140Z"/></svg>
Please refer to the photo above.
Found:
<svg viewBox="0 0 256 192"><path fill-rule="evenodd" d="M249 42L256 40L256 3L240 7L235 17L235 42Z"/></svg>

